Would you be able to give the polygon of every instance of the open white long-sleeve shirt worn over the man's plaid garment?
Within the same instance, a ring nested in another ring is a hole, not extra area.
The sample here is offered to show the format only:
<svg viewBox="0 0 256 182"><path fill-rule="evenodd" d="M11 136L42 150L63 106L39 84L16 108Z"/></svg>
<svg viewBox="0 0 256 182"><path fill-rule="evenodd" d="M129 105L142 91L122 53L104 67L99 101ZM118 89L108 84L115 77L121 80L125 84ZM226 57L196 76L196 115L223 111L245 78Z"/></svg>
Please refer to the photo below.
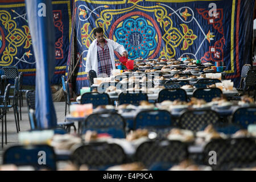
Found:
<svg viewBox="0 0 256 182"><path fill-rule="evenodd" d="M109 54L112 63L112 68L115 69L115 57L114 51L117 51L122 55L123 52L127 52L123 45L114 42L114 40L105 39L109 47ZM89 73L90 70L96 71L98 75L98 57L97 57L97 39L93 40L92 44L87 52L85 72Z"/></svg>

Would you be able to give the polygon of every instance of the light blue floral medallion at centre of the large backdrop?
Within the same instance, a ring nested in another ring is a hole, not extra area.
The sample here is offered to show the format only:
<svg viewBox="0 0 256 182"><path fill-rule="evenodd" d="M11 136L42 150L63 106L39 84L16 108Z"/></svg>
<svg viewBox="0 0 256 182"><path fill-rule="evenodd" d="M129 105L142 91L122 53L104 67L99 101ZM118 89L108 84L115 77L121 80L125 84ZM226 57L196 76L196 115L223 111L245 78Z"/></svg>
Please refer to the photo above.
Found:
<svg viewBox="0 0 256 182"><path fill-rule="evenodd" d="M126 19L122 26L115 30L114 35L117 42L129 52L129 59L146 59L150 51L157 46L155 29L143 18Z"/></svg>

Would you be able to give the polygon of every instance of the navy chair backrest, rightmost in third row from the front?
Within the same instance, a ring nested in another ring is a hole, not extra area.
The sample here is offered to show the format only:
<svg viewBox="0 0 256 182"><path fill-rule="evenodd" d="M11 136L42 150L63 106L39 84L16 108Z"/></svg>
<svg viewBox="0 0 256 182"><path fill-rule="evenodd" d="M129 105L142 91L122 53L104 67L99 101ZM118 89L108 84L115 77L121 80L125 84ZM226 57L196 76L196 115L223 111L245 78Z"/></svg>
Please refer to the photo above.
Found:
<svg viewBox="0 0 256 182"><path fill-rule="evenodd" d="M192 97L203 99L207 102L211 102L213 98L221 97L222 91L219 88L208 88L208 89L196 89L193 92Z"/></svg>

